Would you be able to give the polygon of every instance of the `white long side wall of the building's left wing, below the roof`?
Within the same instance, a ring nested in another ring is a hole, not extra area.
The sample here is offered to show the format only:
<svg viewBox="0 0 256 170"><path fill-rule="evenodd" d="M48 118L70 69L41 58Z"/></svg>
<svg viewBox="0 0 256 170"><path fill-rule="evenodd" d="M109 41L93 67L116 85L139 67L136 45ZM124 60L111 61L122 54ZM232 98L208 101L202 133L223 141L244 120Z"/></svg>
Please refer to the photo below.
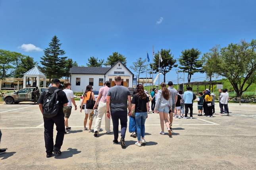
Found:
<svg viewBox="0 0 256 170"><path fill-rule="evenodd" d="M76 85L76 78L81 78L80 86ZM101 87L99 86L99 79L103 79L103 83L105 82L104 74L71 74L71 90L74 92L84 92L86 86L89 85L89 78L93 78L93 90L99 91ZM106 79L108 80L108 79Z"/></svg>

